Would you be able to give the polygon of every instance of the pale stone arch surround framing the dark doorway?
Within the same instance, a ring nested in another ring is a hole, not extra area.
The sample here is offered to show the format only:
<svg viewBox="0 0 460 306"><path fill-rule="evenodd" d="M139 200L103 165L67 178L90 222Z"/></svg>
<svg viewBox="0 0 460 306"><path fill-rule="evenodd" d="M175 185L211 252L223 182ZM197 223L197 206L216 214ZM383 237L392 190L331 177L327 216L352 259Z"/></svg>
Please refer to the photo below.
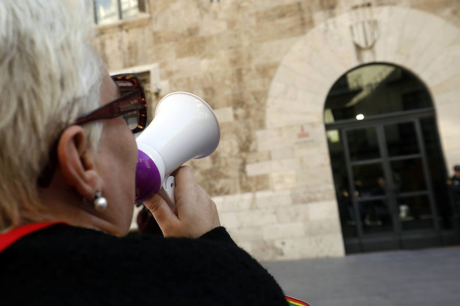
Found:
<svg viewBox="0 0 460 306"><path fill-rule="evenodd" d="M373 11L378 38L371 47L361 49L351 37L352 14L319 24L286 54L269 89L266 129L257 131L259 151L284 153L271 155L271 163L279 165L278 172L272 173L272 188L290 190L293 207L311 208L296 210L304 214L300 219L305 220L305 228L314 228L316 221L336 220L329 224L338 233L324 229L318 242L310 243L324 250L318 254L311 249L297 250L300 258L343 253L333 246L340 245L342 238L323 111L329 89L348 70L387 62L416 74L432 96L447 166L460 163L460 108L455 104L460 96L459 29L423 11L379 7ZM283 249L289 252L296 243Z"/></svg>

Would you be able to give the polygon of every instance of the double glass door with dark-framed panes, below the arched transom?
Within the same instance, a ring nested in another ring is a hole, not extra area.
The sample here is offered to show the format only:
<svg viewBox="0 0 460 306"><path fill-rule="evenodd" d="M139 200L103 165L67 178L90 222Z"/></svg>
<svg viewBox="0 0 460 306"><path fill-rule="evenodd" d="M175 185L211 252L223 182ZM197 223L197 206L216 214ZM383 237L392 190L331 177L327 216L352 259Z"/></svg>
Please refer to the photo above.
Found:
<svg viewBox="0 0 460 306"><path fill-rule="evenodd" d="M418 119L359 126L343 129L341 137L349 219L356 224L361 251L410 247L421 231L436 236L439 225Z"/></svg>

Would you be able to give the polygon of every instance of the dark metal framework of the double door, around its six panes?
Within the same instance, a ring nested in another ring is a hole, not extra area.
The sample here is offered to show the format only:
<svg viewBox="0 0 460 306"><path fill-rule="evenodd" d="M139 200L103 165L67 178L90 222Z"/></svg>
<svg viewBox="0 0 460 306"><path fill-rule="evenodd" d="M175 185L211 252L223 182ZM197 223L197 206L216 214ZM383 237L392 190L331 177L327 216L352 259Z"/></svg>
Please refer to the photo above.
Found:
<svg viewBox="0 0 460 306"><path fill-rule="evenodd" d="M378 241L379 239L388 238L392 240L394 244L394 248L404 248L403 239L410 237L420 237L420 236L431 236L432 239L438 239L440 244L443 243L443 235L439 224L438 219L438 210L435 205L435 200L433 196L433 186L430 180L430 169L427 164L427 157L426 157L426 150L423 142L423 133L421 131L420 126L420 119L425 117L435 117L433 108L426 108L426 109L419 109L414 111L405 111L405 112L398 112L398 113L390 113L384 115L377 115L372 117L367 117L363 120L357 121L356 119L351 120L343 120L340 122L329 123L326 125L326 130L340 130L340 136L342 137L342 145L344 149L344 156L346 159L346 166L347 166L347 175L349 181L349 190L351 190L352 196L352 203L353 203L353 210L356 216L356 228L357 228L357 239L359 240L359 246L361 251L365 251L365 243L369 240ZM413 122L416 135L417 135L417 145L419 148L418 154L412 155L402 155L402 156L395 156L389 157L387 146L385 142L385 135L384 135L384 125L388 124L395 124L399 122ZM380 150L380 158L377 159L370 159L364 161L357 161L352 162L350 160L350 150L348 145L347 139L347 131L355 130L355 129L364 129L366 127L375 127L377 132L377 141ZM436 131L437 132L437 131ZM429 207L431 209L431 214L433 216L433 228L429 229L422 229L422 230L411 230L411 231L403 231L401 226L401 221L399 220L398 213L399 208L397 207L397 195L395 192L395 186L393 185L392 180L392 169L390 167L391 161L396 160L406 160L410 158L420 158L422 163L422 169L424 173L424 181L426 190L424 191L416 191L410 192L403 196L417 196L417 195L427 195L429 200ZM352 172L352 167L354 165L365 165L365 164L372 164L372 163L381 163L383 167L383 174L385 176L386 182L388 182L388 189L392 192L389 192L382 196L369 196L363 199L358 199L354 196L354 177ZM389 202L389 213L392 216L393 221L393 231L392 232L385 232L385 233L376 233L376 234L364 234L362 230L362 222L361 219L358 217L360 212L358 208L358 202L362 200L380 200L383 198L388 198ZM392 236L392 237L390 237ZM346 239L347 240L347 239ZM356 240L356 238L351 238L351 240Z"/></svg>

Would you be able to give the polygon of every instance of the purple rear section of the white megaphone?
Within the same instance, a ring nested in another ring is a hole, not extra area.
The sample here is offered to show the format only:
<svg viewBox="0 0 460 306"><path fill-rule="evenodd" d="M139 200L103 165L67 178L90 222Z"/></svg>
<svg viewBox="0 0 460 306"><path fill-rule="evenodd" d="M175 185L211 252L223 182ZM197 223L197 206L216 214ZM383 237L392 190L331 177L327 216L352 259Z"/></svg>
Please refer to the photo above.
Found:
<svg viewBox="0 0 460 306"><path fill-rule="evenodd" d="M147 154L138 151L136 165L136 203L144 202L159 191L162 178L158 168Z"/></svg>

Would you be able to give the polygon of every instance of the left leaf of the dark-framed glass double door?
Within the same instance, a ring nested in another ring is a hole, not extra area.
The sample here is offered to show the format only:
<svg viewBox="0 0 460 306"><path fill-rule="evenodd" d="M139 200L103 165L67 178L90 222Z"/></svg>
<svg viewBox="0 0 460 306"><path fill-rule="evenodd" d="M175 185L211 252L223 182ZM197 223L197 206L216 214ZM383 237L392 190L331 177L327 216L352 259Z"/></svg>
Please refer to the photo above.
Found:
<svg viewBox="0 0 460 306"><path fill-rule="evenodd" d="M342 130L356 232L361 251L399 248L394 196L379 125Z"/></svg>

